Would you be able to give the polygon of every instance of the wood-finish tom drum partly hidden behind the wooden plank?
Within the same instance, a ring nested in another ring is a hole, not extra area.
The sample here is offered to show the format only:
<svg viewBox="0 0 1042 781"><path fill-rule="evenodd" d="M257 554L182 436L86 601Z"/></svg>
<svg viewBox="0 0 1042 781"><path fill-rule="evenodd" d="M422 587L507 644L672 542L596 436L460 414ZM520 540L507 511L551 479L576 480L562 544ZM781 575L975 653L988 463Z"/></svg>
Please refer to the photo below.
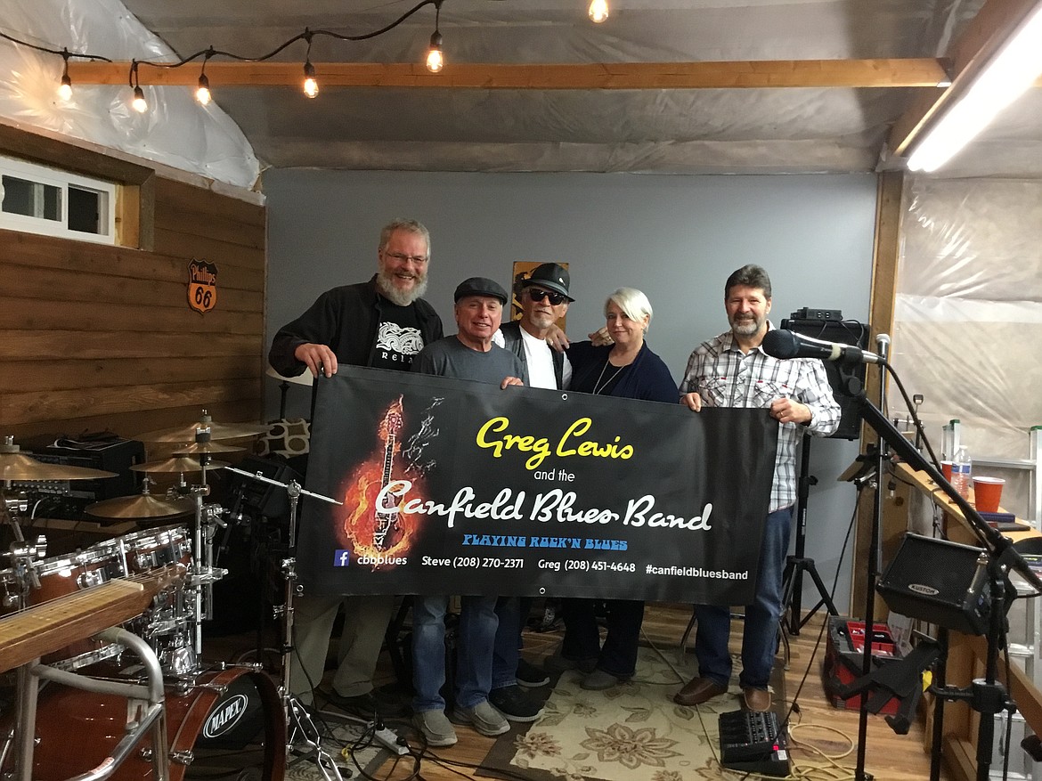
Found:
<svg viewBox="0 0 1042 781"><path fill-rule="evenodd" d="M27 607L103 585L111 578L126 575L123 558L114 540L100 543L79 553L44 559L33 571L40 579L40 587L29 590ZM89 637L70 644L41 661L59 670L79 670L117 656L122 650L120 646Z"/></svg>

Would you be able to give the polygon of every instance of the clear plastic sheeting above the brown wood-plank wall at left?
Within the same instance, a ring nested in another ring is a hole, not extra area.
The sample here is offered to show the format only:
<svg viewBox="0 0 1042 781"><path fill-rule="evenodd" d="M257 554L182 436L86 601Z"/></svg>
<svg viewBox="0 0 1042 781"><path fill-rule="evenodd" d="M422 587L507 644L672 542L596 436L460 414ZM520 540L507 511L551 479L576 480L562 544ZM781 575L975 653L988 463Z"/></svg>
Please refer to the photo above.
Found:
<svg viewBox="0 0 1042 781"><path fill-rule="evenodd" d="M4 0L0 29L50 49L110 59L176 60L117 0ZM188 87L144 87L149 110L130 107L128 86L73 84L57 96L60 56L0 41L0 116L200 174L240 187L256 185L260 166L239 126ZM143 79L144 80L144 79Z"/></svg>

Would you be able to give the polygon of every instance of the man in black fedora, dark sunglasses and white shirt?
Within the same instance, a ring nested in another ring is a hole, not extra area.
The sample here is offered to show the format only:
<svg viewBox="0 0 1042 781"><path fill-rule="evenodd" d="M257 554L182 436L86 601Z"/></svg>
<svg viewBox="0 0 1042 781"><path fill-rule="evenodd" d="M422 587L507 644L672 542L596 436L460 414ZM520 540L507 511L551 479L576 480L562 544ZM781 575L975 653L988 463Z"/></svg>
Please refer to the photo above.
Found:
<svg viewBox="0 0 1042 781"><path fill-rule="evenodd" d="M503 347L513 351L528 369L528 384L563 391L572 378L568 356L551 350L546 337L551 327L568 311L575 299L569 296L568 270L557 263L541 263L531 275L516 285L521 301L521 319L504 324L499 333ZM492 690L489 702L512 722L534 722L543 706L524 687L550 682L540 667L521 658L521 629L531 608L530 597L500 597L496 604L499 627L496 629L492 662Z"/></svg>

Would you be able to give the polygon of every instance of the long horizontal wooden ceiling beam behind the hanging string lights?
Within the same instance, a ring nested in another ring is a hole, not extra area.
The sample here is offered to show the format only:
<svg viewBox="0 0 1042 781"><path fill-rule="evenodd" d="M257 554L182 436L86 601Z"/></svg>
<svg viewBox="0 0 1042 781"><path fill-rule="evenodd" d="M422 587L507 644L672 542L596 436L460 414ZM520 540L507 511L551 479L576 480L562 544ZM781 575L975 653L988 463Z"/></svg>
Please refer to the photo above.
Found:
<svg viewBox="0 0 1042 781"><path fill-rule="evenodd" d="M139 65L142 85L195 86L201 64ZM420 64L316 62L326 86L455 87L472 90L734 90L770 87L936 86L947 79L943 60L774 59L720 62L601 62L562 65L452 64L430 73ZM69 62L76 84L127 84L130 62ZM299 62L206 64L214 90L224 86L299 89Z"/></svg>

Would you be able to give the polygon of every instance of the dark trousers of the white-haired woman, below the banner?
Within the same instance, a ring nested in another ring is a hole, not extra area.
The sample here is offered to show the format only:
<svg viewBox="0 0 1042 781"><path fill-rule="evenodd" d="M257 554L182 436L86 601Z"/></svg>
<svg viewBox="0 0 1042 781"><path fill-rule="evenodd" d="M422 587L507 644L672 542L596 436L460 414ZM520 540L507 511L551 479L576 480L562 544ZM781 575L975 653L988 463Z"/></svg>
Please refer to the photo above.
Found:
<svg viewBox="0 0 1042 781"><path fill-rule="evenodd" d="M634 600L607 600L607 636L600 646L594 600L566 599L561 602L565 621L565 640L561 655L582 661L596 659L597 667L617 678L629 678L637 672L637 644L641 638L644 603Z"/></svg>

